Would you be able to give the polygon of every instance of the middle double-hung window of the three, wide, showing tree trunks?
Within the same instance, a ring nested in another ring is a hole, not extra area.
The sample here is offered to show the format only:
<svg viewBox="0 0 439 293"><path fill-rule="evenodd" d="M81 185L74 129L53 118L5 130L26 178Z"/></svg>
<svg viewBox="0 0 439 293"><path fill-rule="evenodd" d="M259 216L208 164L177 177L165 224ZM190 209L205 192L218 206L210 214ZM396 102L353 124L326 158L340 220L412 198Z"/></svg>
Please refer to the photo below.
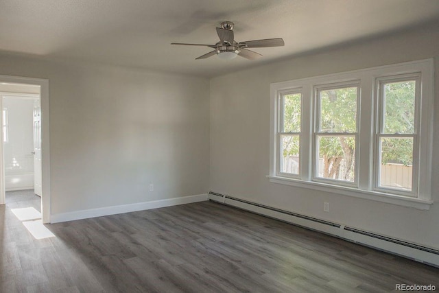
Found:
<svg viewBox="0 0 439 293"><path fill-rule="evenodd" d="M358 141L356 85L317 86L316 92L316 180L356 183L355 149ZM339 183L340 184L340 183Z"/></svg>

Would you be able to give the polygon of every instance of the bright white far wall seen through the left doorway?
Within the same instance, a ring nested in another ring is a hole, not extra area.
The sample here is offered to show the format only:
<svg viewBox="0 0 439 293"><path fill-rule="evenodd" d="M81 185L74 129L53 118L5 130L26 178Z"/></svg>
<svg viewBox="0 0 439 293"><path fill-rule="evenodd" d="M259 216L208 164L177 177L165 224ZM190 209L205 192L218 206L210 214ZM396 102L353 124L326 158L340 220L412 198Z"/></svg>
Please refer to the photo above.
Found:
<svg viewBox="0 0 439 293"><path fill-rule="evenodd" d="M8 141L3 143L6 191L34 188L34 99L3 97L2 106L8 109Z"/></svg>

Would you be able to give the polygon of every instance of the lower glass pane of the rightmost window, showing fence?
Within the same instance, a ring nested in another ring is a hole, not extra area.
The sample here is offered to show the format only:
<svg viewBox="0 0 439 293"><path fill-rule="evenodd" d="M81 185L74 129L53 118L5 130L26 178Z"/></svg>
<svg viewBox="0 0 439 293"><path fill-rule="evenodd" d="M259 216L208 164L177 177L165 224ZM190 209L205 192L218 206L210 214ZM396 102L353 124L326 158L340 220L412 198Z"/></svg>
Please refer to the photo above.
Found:
<svg viewBox="0 0 439 293"><path fill-rule="evenodd" d="M381 137L379 186L412 190L413 138Z"/></svg>

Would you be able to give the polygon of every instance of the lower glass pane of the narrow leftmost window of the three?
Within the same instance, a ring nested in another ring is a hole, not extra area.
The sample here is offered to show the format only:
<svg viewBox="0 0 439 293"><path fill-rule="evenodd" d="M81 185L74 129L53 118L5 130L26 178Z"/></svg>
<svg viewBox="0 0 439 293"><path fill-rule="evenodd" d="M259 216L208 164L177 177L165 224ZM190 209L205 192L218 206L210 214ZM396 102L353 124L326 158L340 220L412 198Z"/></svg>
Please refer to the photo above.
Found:
<svg viewBox="0 0 439 293"><path fill-rule="evenodd" d="M298 135L281 135L282 173L299 174L299 140Z"/></svg>

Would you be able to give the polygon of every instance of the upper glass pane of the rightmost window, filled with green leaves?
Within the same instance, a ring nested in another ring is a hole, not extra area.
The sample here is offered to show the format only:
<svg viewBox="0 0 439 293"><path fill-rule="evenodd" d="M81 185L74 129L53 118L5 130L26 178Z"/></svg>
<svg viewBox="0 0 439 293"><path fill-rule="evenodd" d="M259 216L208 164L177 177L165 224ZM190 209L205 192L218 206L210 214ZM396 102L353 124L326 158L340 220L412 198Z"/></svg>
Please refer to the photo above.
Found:
<svg viewBox="0 0 439 293"><path fill-rule="evenodd" d="M384 84L383 133L414 133L416 82Z"/></svg>

